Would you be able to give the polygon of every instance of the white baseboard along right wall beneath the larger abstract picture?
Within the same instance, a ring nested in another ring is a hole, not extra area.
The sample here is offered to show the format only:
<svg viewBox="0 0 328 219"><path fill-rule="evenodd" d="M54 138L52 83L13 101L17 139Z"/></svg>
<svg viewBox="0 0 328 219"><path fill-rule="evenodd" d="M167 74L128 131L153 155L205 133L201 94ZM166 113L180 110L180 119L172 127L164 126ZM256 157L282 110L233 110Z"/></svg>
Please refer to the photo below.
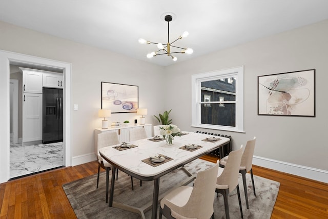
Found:
<svg viewBox="0 0 328 219"><path fill-rule="evenodd" d="M326 170L276 161L260 156L253 156L253 164L284 173L310 178L311 180L328 183L328 171Z"/></svg>

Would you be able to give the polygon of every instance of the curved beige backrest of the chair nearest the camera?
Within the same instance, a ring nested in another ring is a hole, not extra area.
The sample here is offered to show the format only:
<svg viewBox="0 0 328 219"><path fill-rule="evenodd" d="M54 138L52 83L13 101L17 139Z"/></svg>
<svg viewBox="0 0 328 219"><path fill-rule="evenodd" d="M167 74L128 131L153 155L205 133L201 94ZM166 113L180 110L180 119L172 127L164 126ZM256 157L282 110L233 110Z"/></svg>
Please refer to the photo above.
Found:
<svg viewBox="0 0 328 219"><path fill-rule="evenodd" d="M185 206L174 206L171 210L183 215L184 218L210 218L214 212L216 177L219 161L216 165L197 173L194 187Z"/></svg>

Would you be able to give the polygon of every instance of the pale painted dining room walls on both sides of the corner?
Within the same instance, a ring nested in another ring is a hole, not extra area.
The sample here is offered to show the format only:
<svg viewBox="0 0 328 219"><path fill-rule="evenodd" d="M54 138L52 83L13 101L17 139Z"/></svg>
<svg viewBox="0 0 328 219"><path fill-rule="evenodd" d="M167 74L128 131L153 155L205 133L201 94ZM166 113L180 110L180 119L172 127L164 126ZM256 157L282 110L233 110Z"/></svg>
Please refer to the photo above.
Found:
<svg viewBox="0 0 328 219"><path fill-rule="evenodd" d="M97 117L101 81L138 85L139 107L148 108L147 123L155 124L153 114L172 109L174 124L182 130L196 131L199 129L190 127L191 75L244 65L245 133L210 131L232 135L234 148L257 136L256 156L327 173L328 144L324 136L328 121L325 97L328 21L166 68L3 22L0 22L0 35L1 50L72 64L72 104L78 104L78 111L72 111L73 157L93 154L93 129L101 125L101 118ZM257 115L258 75L312 68L316 69L316 117ZM0 75L9 81L9 75L4 72ZM0 100L5 99L4 95L9 93L1 92ZM136 113L113 114L110 121L132 121L138 117ZM0 124L0 130L7 127L9 124ZM8 147L2 143L0 139L0 147Z"/></svg>

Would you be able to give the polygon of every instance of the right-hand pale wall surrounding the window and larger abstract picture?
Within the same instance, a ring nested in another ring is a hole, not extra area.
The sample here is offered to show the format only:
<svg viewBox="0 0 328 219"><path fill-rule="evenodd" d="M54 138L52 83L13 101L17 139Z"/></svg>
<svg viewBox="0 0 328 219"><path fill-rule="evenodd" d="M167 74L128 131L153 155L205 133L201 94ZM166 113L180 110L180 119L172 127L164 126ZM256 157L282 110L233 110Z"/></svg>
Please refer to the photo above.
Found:
<svg viewBox="0 0 328 219"><path fill-rule="evenodd" d="M176 96L176 89L183 96L168 102L174 123L182 130L202 130L190 127L192 74L243 65L245 133L210 132L232 135L235 149L257 136L256 156L328 173L327 36L328 20L167 67L168 78L174 75L170 81L173 89L168 90L167 96ZM257 115L257 76L313 68L316 69L316 117Z"/></svg>

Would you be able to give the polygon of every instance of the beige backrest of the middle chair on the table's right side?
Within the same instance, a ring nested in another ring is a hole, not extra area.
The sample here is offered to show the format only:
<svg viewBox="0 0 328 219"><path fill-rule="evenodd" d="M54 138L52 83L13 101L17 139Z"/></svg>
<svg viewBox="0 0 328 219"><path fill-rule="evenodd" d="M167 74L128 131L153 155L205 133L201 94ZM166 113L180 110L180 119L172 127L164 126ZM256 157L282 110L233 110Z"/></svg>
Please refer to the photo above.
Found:
<svg viewBox="0 0 328 219"><path fill-rule="evenodd" d="M221 175L217 177L217 185L228 185L229 192L234 190L238 185L239 167L242 155L242 145L238 150L229 153L226 166L223 168Z"/></svg>

